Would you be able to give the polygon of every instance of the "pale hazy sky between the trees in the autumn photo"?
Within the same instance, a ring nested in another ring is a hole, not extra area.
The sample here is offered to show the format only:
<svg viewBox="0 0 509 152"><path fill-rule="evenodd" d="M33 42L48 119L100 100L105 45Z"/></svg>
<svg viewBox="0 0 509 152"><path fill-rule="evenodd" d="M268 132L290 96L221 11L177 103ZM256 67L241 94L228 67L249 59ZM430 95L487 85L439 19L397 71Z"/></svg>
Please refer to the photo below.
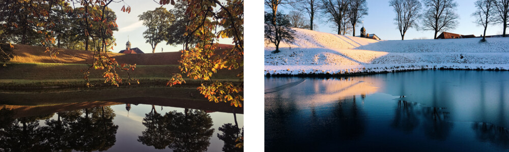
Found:
<svg viewBox="0 0 509 152"><path fill-rule="evenodd" d="M127 14L126 12L120 11L124 5L126 5L126 7L127 5L131 6L131 13ZM119 31L114 31L113 33L113 36L117 39L117 46L114 46L114 50L112 50L112 52L124 50L129 36L131 48L137 47L145 53L152 53L152 47L149 43L146 43L146 40L143 38L143 32L147 29L147 27L143 25L143 21L138 21L138 15L149 10L155 10L158 7L160 7L160 5L154 1L147 0L124 0L120 3L111 3L109 8L115 11L117 15L117 24L119 25ZM169 10L173 8L173 5L164 5L163 7ZM223 39L220 40L219 43L231 44L232 39ZM182 45L166 45L166 41L163 41L156 46L155 52L161 52L161 48L163 49L163 52L174 52L181 50Z"/></svg>

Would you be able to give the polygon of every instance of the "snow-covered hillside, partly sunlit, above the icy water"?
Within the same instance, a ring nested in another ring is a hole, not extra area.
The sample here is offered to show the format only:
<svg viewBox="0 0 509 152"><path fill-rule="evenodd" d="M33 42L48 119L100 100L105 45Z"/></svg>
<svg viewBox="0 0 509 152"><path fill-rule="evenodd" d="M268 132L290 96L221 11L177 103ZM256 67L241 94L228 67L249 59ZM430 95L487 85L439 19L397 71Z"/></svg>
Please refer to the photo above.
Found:
<svg viewBox="0 0 509 152"><path fill-rule="evenodd" d="M509 69L509 37L378 41L296 30L292 44L265 44L265 73L356 73L410 69ZM383 38L383 37L382 37Z"/></svg>

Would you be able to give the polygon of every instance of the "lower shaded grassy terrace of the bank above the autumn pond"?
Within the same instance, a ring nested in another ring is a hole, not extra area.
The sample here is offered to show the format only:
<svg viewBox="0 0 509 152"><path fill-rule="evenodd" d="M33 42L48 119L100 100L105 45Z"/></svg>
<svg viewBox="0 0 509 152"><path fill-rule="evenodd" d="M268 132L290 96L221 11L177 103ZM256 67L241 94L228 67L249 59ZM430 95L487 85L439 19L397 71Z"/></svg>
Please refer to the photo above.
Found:
<svg viewBox="0 0 509 152"><path fill-rule="evenodd" d="M66 88L84 87L83 72L86 64L59 64L59 63L10 63L0 68L0 88ZM93 85L108 86L104 84L103 70L91 69L89 79ZM131 78L139 79L136 86L165 86L173 73L179 73L178 65L138 65L134 71L129 71ZM213 80L238 82L236 75L242 72L237 70L219 70L214 74ZM123 78L126 72L119 71ZM185 86L197 86L201 81L185 79ZM177 85L176 87L180 87Z"/></svg>

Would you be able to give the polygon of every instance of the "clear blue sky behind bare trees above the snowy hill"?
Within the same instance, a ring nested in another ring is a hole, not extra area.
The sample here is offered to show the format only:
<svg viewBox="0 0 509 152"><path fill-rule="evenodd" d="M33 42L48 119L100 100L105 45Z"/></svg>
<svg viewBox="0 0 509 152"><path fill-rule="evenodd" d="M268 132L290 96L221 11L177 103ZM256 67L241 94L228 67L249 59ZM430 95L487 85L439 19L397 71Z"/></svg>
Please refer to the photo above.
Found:
<svg viewBox="0 0 509 152"><path fill-rule="evenodd" d="M483 34L483 26L477 26L475 23L473 23L475 18L471 16L471 14L475 11L475 1L461 0L456 2L458 3L457 13L460 16L459 24L456 29L449 30L448 32L464 35L474 34L476 36ZM395 17L395 13L393 12L392 7L389 6L389 0L367 0L367 7L369 8L368 15L364 16L362 19L364 21L366 33L375 33L382 40L401 40L400 32L397 29L398 26L394 24L393 19ZM281 8L280 10L282 10L285 14L290 12L290 9L288 8ZM423 11L421 10L421 12ZM305 15L305 17L309 18L307 15ZM318 21L317 23L319 26L318 31L337 33L332 28L330 28L331 24L326 24L323 21ZM359 24L359 27L355 28L355 33L357 35L360 33L361 26L362 24ZM501 33L502 24L489 25L488 29L486 30L486 35L495 35ZM405 40L417 39L419 37L432 39L433 36L434 31L418 31L415 30L415 28L411 28L407 30L407 33L405 34Z"/></svg>

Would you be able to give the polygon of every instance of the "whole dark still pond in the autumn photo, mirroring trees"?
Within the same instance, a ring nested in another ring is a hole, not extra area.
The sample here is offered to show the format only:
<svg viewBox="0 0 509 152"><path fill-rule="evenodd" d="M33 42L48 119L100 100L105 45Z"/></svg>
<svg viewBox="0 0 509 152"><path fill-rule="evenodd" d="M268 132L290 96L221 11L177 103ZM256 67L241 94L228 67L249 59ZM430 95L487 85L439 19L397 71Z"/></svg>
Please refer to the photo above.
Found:
<svg viewBox="0 0 509 152"><path fill-rule="evenodd" d="M242 151L235 147L243 134L242 108L151 94L81 92L94 99L75 102L68 94L0 93L0 151Z"/></svg>

